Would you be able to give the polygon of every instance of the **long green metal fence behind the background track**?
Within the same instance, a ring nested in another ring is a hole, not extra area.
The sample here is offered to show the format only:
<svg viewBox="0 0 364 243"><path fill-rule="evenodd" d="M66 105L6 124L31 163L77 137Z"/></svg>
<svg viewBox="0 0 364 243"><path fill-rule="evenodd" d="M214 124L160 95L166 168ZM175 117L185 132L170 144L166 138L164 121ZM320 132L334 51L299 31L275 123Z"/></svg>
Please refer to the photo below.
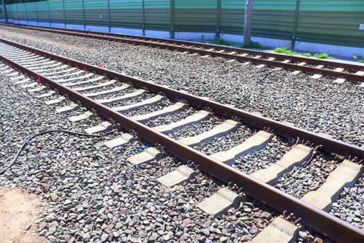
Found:
<svg viewBox="0 0 364 243"><path fill-rule="evenodd" d="M9 19L243 35L243 0L53 0L7 5ZM255 0L252 35L364 47L364 0Z"/></svg>

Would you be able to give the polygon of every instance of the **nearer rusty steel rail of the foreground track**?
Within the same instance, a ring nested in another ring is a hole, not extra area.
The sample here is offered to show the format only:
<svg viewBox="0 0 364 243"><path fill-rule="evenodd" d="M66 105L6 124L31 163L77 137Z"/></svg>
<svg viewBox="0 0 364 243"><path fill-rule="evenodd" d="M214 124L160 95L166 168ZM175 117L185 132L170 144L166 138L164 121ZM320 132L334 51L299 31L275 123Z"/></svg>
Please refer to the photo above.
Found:
<svg viewBox="0 0 364 243"><path fill-rule="evenodd" d="M191 160L195 162L199 165L199 168L202 171L211 174L211 176L214 176L218 180L225 183L232 182L239 187L243 187L243 191L245 193L259 201L262 201L263 203L266 203L268 206L275 208L275 210L280 212L288 210L288 212L292 212L296 217L302 218L301 222L303 224L315 229L315 231L327 235L331 238L331 240L335 240L337 242L364 242L364 231L352 226L342 219L338 219L327 212L311 206L309 203L296 199L294 196L281 192L275 187L262 183L261 181L252 178L237 169L229 167L228 165L200 153L187 145L177 142L171 137L126 117L125 115L112 110L112 108L89 99L83 94L71 90L60 83L52 81L37 72L33 72L31 69L19 65L17 62L13 62L4 56L0 56L0 60L11 65L15 69L21 70L24 74L32 76L38 82L49 85L63 94L67 94L67 96L71 99L82 103L83 106L96 110L103 117L114 119L114 121L121 124L123 128L136 131L138 135L149 142L153 144L162 144L166 151L177 156L181 160Z"/></svg>

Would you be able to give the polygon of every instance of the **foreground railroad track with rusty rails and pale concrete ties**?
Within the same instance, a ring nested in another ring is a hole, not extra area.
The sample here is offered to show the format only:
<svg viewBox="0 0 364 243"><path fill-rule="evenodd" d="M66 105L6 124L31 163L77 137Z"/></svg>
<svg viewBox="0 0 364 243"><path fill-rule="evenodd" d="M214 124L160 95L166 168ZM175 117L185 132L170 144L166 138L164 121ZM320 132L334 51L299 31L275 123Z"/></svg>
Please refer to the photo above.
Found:
<svg viewBox="0 0 364 243"><path fill-rule="evenodd" d="M225 182L226 187L198 204L202 211L221 215L228 208L239 205L243 191L283 213L252 242L266 241L267 237L272 242L272 235L280 242L295 240L299 231L297 221L338 242L364 240L363 230L327 212L343 188L354 185L363 173L363 167L357 162L364 158L361 147L8 40L0 39L0 60L3 62L1 74L35 94L37 99L44 99L47 105L57 107L56 111L67 115L71 121L82 122L93 116L107 119L87 128L87 133L105 133L120 127L129 131L106 141L105 146L110 149L123 146L135 140L136 136L155 144L131 156L128 162L141 165L160 158L166 152L187 162L158 179L166 187L188 183L196 174L197 167ZM80 106L88 110L78 113ZM142 112L136 114L135 110ZM168 115L175 115L175 119L168 124L162 122L153 126L153 120ZM174 133L189 126L196 128L193 125L202 124L211 117L218 117L219 122L208 131L202 129L191 137L178 137ZM234 133L243 137L239 144L215 153L202 153L204 144L216 145L216 140ZM250 175L236 169L234 164L238 158L264 149L273 137L288 137L291 141L298 137L299 140L296 144L288 143L287 150L278 161L268 163ZM309 164L318 150L350 156L352 160L340 157L343 158L340 165L331 171L318 190L304 194L300 199L275 187L286 171Z"/></svg>

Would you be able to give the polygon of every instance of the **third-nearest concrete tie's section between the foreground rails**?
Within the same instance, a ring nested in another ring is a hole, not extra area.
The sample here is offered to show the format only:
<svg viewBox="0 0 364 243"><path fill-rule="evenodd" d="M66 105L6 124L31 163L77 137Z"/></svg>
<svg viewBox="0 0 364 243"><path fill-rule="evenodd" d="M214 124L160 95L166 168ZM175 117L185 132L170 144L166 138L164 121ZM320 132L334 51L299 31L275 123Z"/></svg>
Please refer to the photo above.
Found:
<svg viewBox="0 0 364 243"><path fill-rule="evenodd" d="M272 139L272 137L272 133L259 131L251 137L248 137L248 139L241 144L232 147L232 149L214 153L211 157L231 166L234 164L236 158L245 156L252 151L262 149Z"/></svg>

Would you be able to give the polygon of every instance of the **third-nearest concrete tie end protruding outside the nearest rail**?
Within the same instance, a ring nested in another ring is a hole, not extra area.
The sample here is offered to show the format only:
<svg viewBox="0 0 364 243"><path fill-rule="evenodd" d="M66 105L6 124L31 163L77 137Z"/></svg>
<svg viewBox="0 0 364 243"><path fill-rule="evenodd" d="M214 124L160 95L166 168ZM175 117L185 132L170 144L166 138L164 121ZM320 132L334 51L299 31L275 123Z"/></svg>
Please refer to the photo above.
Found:
<svg viewBox="0 0 364 243"><path fill-rule="evenodd" d="M188 167L187 165L181 165L175 170L157 178L159 183L162 183L166 187L173 187L174 185L180 185L184 182L189 182L196 176L196 171Z"/></svg>

